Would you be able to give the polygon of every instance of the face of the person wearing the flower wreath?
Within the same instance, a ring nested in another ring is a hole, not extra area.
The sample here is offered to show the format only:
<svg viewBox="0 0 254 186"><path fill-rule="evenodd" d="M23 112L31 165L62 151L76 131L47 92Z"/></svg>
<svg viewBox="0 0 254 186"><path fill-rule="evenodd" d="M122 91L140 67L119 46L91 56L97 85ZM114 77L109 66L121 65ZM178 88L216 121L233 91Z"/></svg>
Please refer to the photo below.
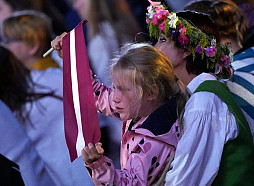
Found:
<svg viewBox="0 0 254 186"><path fill-rule="evenodd" d="M155 44L155 48L168 57L173 68L177 68L177 66L182 63L181 50L175 47L172 39L166 37L164 34L160 35L157 43Z"/></svg>

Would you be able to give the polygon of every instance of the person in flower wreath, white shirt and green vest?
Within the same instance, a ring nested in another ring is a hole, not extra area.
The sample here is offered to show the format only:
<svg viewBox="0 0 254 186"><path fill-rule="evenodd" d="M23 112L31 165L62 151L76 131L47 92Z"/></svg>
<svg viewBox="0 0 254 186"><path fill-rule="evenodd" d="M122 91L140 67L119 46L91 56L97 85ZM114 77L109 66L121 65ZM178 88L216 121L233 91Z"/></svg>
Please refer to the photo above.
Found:
<svg viewBox="0 0 254 186"><path fill-rule="evenodd" d="M250 128L223 83L233 74L229 44L219 44L208 16L149 2L150 36L190 94L165 185L254 185Z"/></svg>

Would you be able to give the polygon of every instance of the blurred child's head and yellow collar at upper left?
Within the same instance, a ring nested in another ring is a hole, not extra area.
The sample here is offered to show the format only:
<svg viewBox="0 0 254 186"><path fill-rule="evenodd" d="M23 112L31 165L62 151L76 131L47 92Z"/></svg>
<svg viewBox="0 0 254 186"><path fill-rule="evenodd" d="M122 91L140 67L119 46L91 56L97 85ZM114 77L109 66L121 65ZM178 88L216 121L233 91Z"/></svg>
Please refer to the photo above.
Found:
<svg viewBox="0 0 254 186"><path fill-rule="evenodd" d="M42 57L51 38L51 21L38 11L18 11L2 23L2 42L30 70L60 68L51 56Z"/></svg>

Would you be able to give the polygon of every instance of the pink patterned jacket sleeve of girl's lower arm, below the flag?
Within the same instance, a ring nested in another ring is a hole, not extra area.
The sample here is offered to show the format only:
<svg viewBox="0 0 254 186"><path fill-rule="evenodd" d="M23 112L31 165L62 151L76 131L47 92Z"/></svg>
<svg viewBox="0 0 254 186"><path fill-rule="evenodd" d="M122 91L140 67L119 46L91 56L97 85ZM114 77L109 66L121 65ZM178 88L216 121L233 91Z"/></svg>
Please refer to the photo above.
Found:
<svg viewBox="0 0 254 186"><path fill-rule="evenodd" d="M131 186L153 183L166 163L172 160L175 148L149 137L138 138L139 143L130 145L132 153L122 170L115 169L112 160L105 156L87 167L95 185ZM142 140L145 144L140 145Z"/></svg>

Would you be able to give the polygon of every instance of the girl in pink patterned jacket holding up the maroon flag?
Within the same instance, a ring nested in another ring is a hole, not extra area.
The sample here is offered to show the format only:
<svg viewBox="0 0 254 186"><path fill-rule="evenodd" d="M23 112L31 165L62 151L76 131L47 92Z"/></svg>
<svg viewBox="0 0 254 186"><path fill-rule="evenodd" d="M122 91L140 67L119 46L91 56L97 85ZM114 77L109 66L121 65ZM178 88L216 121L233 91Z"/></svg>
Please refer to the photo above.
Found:
<svg viewBox="0 0 254 186"><path fill-rule="evenodd" d="M52 47L61 53L60 40ZM113 62L113 89L97 79L93 87L98 111L123 121L121 170L101 143L89 143L82 157L95 185L151 185L174 157L187 96L167 57L149 44L126 44Z"/></svg>

